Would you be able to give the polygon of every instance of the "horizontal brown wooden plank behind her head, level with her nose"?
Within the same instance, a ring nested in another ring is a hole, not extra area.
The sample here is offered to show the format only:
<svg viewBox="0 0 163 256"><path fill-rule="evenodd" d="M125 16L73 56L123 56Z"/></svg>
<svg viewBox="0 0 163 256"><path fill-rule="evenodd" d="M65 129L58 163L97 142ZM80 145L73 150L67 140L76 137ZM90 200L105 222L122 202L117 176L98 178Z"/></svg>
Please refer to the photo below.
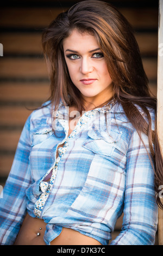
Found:
<svg viewBox="0 0 163 256"><path fill-rule="evenodd" d="M157 59L143 58L149 79L156 79ZM48 78L46 62L37 58L4 58L0 62L0 76L7 78Z"/></svg>

